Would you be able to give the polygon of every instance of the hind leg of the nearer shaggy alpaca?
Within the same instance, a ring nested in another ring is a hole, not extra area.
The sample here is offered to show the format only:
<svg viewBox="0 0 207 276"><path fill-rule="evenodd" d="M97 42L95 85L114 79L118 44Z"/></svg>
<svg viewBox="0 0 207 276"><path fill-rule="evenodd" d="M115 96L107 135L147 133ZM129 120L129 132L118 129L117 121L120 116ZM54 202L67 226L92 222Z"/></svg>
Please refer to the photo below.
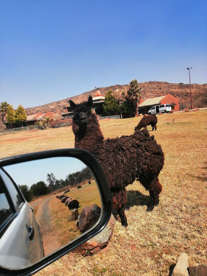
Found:
<svg viewBox="0 0 207 276"><path fill-rule="evenodd" d="M147 211L151 212L154 206L159 204L159 194L162 191L162 185L159 182L158 177L154 178L149 186L150 202L147 205Z"/></svg>

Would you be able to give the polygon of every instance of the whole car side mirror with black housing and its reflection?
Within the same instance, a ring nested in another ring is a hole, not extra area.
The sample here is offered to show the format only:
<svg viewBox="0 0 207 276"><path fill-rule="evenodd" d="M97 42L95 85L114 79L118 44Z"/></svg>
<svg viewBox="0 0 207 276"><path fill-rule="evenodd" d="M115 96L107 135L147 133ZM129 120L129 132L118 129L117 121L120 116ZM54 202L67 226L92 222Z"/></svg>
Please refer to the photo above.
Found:
<svg viewBox="0 0 207 276"><path fill-rule="evenodd" d="M43 269L101 232L111 207L103 170L86 150L1 159L0 275Z"/></svg>

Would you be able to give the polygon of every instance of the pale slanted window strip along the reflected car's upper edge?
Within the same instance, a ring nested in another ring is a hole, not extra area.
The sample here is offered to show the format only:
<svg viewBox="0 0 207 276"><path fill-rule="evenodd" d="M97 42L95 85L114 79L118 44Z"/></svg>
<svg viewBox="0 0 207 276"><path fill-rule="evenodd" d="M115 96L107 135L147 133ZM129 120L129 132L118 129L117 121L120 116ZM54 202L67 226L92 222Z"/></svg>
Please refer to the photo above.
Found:
<svg viewBox="0 0 207 276"><path fill-rule="evenodd" d="M6 185L6 188L8 189L8 192L10 194L10 197L11 197L11 200L13 201L14 206L21 208L22 204L25 202L21 193L18 191L15 184L8 177L8 175L4 173L3 170L0 171L0 176L4 184Z"/></svg>

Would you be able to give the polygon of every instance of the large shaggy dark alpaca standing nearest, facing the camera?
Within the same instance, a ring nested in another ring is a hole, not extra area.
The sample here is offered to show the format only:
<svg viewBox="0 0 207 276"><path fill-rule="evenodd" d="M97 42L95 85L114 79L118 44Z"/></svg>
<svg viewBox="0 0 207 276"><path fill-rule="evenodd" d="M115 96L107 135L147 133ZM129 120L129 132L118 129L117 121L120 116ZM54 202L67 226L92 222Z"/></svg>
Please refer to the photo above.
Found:
<svg viewBox="0 0 207 276"><path fill-rule="evenodd" d="M92 112L92 96L80 104L69 102L74 111L75 148L86 149L99 160L110 187L113 209L117 210L121 224L127 226L125 187L136 179L149 190L147 210L152 211L159 204L162 185L158 175L164 165L163 151L154 136L150 137L147 130L136 130L129 136L103 140L97 116Z"/></svg>

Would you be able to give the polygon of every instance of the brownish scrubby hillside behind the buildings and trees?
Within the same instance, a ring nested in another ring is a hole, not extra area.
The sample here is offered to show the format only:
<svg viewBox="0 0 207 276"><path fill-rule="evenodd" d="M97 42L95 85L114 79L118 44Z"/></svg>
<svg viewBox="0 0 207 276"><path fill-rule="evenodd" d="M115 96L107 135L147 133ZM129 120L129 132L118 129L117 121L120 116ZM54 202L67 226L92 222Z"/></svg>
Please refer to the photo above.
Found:
<svg viewBox="0 0 207 276"><path fill-rule="evenodd" d="M153 98L153 97L163 96L170 93L171 95L177 97L180 103L183 103L183 106L185 107L191 106L191 95L190 95L189 84L183 84L183 83L170 84L167 82L146 82L146 83L141 83L141 86L143 88L142 94L146 99L150 97ZM117 88L121 90L124 87L128 88L129 85L109 86L109 87L99 88L99 90L104 96L109 89L111 89L112 91L115 91ZM191 91L192 91L194 108L206 107L207 106L207 84L204 84L204 85L192 84ZM63 107L69 105L68 103L69 99L72 99L75 102L81 102L83 100L86 100L89 95L94 96L96 92L97 90L94 89L74 97L69 97L66 99L54 101L40 106L25 108L25 112L27 115L36 114L38 112L46 113L49 111L55 112L55 113L63 113L65 112Z"/></svg>

